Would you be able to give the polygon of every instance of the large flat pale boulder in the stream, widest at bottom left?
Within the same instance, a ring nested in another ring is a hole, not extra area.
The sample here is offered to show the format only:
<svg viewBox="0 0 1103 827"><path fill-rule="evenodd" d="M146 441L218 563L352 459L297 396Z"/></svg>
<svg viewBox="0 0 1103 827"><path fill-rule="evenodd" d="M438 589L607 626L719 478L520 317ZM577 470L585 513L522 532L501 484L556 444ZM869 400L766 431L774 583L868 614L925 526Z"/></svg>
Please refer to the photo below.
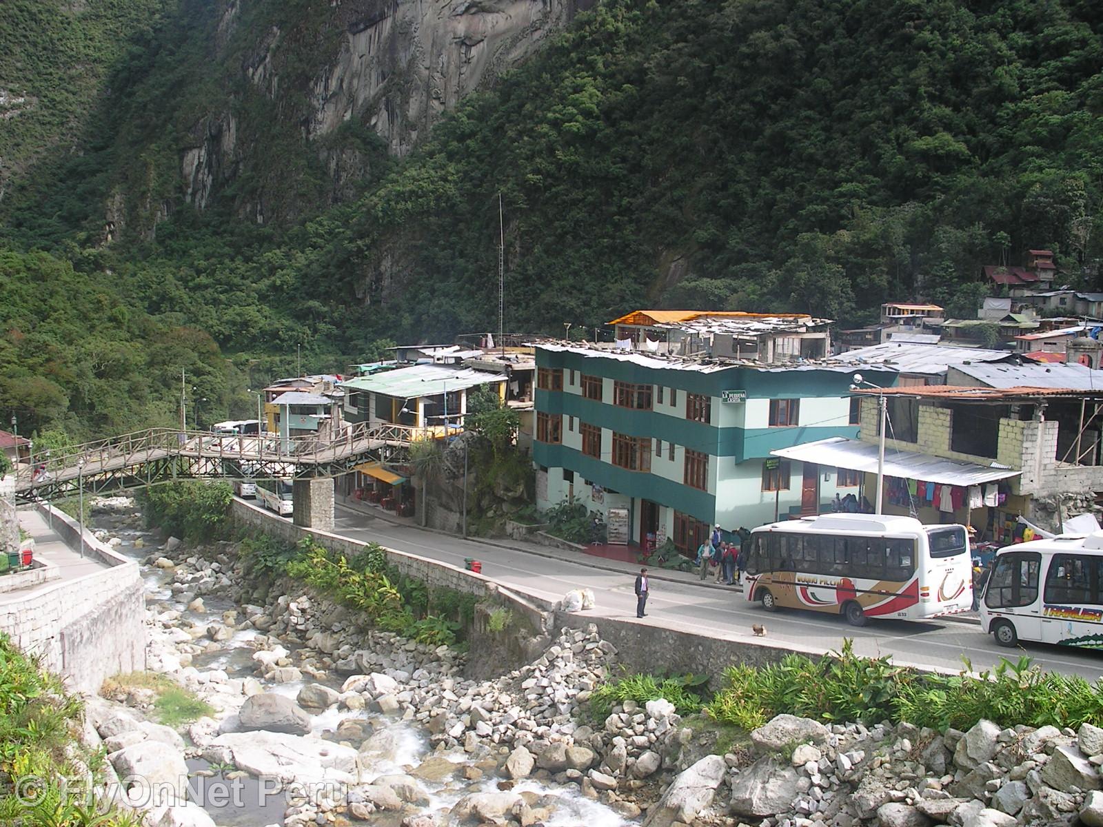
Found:
<svg viewBox="0 0 1103 827"><path fill-rule="evenodd" d="M238 770L258 777L303 784L358 781L356 750L318 738L285 732L227 732L207 747L208 752L215 750L228 752Z"/></svg>

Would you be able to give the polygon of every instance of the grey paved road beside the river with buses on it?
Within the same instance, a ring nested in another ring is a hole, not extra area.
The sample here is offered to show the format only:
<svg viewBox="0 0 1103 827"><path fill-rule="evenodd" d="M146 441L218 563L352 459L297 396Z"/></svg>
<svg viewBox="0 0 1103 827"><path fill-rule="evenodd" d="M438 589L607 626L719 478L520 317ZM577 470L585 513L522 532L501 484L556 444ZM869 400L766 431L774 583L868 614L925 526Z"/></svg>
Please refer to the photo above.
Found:
<svg viewBox="0 0 1103 827"><path fill-rule="evenodd" d="M596 613L633 623L675 626L730 640L751 640L751 624L763 623L772 643L802 651L837 649L844 637L850 637L858 654L890 654L901 664L959 669L965 656L974 668L983 669L996 665L1000 656L1028 654L1046 669L1080 674L1091 680L1103 674L1103 653L1045 644L1028 644L1025 652L1005 649L975 623L871 620L868 626L858 629L840 617L813 612L768 614L761 606L743 601L735 590L703 588L692 582L656 581L647 603L649 616L638 621L633 581L627 573L393 525L340 505L334 531L458 566L463 565L465 557L474 557L483 562L483 574L547 600L559 600L570 589L589 588L597 598Z"/></svg>

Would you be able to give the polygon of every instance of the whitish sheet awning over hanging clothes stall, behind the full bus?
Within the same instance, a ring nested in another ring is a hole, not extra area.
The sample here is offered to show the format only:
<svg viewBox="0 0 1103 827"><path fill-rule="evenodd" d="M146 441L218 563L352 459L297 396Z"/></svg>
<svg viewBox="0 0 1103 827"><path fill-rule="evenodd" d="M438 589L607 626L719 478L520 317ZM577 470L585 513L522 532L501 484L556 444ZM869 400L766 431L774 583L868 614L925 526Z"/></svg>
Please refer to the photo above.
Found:
<svg viewBox="0 0 1103 827"><path fill-rule="evenodd" d="M779 448L771 451L774 457L801 462L814 462L818 465L835 465L877 473L877 445L859 442L845 437L832 437L817 442L805 442L792 448ZM899 476L904 480L922 480L942 485L979 485L981 483L1006 480L1018 476L1019 471L993 463L981 465L975 462L947 460L944 457L932 457L927 453L885 449L885 475Z"/></svg>

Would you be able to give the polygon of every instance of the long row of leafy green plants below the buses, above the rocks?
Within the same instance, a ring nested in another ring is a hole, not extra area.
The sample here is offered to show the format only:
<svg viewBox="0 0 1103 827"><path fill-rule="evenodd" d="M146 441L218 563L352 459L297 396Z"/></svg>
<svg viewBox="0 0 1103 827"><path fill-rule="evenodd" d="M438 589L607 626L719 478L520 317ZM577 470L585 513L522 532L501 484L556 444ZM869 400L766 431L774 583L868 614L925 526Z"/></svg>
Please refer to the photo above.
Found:
<svg viewBox="0 0 1103 827"><path fill-rule="evenodd" d="M888 719L961 730L982 718L1003 727L1103 724L1099 683L1042 672L1028 657L1000 659L978 674L966 662L959 675L928 675L893 666L889 657L859 657L847 640L840 652L816 659L792 654L760 668L731 666L724 680L705 711L742 729L782 712L826 722Z"/></svg>

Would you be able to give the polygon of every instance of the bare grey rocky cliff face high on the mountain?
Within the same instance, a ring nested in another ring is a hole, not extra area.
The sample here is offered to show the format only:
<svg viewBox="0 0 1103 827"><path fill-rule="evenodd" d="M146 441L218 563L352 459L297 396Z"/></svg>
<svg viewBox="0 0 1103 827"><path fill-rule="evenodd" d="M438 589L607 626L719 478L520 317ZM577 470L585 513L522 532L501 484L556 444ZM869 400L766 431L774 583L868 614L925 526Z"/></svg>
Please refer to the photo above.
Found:
<svg viewBox="0 0 1103 827"><path fill-rule="evenodd" d="M340 127L366 127L389 153L404 155L443 111L593 2L336 0L312 10L326 14L323 20L285 15L246 31L242 0L229 0L213 30L213 51L218 61L239 58L231 67L239 84L227 107L188 130L180 147L183 197L203 208L243 170L271 161L251 157L256 144L236 115L247 98L260 96L314 149L330 178L330 200L344 200L368 164L363 152L334 140ZM242 208L261 223L270 217L263 196Z"/></svg>

